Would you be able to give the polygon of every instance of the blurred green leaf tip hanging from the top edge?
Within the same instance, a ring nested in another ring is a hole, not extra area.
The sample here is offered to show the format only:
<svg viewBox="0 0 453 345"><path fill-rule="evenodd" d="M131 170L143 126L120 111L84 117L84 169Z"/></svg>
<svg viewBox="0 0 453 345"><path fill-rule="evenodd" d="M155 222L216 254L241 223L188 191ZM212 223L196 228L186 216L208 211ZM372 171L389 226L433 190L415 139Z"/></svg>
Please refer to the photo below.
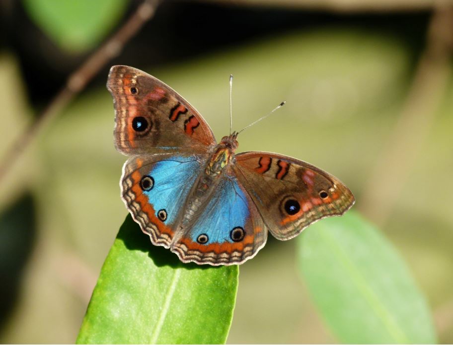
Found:
<svg viewBox="0 0 453 345"><path fill-rule="evenodd" d="M24 0L33 21L60 48L83 52L101 41L121 17L126 0Z"/></svg>

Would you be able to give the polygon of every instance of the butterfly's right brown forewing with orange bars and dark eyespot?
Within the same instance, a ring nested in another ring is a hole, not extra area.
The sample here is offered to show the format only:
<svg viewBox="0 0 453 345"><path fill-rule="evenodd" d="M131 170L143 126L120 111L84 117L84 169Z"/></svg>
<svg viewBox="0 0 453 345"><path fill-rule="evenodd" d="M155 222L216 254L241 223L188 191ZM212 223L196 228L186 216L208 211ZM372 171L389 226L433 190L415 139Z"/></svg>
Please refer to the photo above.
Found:
<svg viewBox="0 0 453 345"><path fill-rule="evenodd" d="M293 238L311 223L340 216L354 204L348 187L308 163L267 152L235 157L233 170L278 239Z"/></svg>

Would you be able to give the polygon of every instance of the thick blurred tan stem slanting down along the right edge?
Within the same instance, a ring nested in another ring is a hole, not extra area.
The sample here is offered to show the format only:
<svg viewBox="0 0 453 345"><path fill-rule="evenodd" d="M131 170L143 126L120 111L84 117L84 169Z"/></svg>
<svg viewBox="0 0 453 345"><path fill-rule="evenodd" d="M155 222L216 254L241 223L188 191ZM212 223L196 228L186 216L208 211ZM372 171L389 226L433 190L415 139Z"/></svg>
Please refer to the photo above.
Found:
<svg viewBox="0 0 453 345"><path fill-rule="evenodd" d="M451 75L453 7L440 6L433 14L427 47L419 60L401 116L388 146L377 159L359 203L379 225L386 223L408 174L427 138Z"/></svg>

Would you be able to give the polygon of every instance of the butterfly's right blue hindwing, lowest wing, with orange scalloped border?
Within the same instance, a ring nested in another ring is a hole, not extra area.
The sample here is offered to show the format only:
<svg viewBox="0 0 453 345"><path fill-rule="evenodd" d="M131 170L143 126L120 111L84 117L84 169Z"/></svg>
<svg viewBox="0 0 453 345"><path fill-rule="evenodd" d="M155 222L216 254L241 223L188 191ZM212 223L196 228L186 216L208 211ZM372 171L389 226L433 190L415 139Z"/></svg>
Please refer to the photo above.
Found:
<svg viewBox="0 0 453 345"><path fill-rule="evenodd" d="M170 248L183 262L232 265L252 258L266 239L252 200L234 176L226 175Z"/></svg>

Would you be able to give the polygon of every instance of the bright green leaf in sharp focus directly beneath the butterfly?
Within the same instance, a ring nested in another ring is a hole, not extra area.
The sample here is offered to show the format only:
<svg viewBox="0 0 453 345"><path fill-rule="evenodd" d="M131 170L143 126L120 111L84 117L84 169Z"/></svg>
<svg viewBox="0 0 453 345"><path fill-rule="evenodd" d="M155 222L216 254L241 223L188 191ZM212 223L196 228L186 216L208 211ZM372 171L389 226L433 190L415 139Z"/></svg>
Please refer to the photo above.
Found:
<svg viewBox="0 0 453 345"><path fill-rule="evenodd" d="M78 344L225 343L237 266L183 264L129 215L91 296Z"/></svg>

